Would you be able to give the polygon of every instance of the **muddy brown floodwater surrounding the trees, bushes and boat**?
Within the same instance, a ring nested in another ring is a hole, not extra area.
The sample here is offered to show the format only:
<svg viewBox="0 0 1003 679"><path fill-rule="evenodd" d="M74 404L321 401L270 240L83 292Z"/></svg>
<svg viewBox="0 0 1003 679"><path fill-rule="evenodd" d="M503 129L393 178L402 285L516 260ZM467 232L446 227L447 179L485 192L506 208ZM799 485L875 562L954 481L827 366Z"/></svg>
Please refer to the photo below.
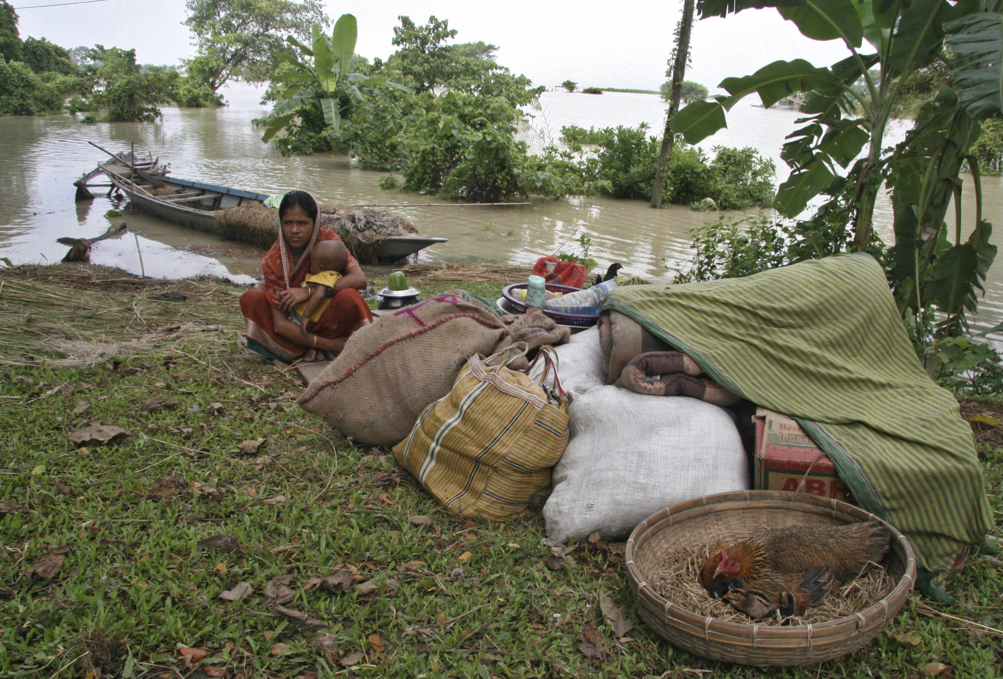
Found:
<svg viewBox="0 0 1003 679"><path fill-rule="evenodd" d="M358 204L440 204L434 197L383 191L384 173L360 169L348 157L312 155L283 157L272 144L262 143L261 130L251 125L268 108L258 103L261 89L236 83L226 92L229 106L219 109L163 107L155 123L81 124L68 115L0 117L0 256L15 263L56 262L66 247L60 237L92 238L103 233L108 210L126 211L129 231L93 248L92 261L147 276L184 277L196 274L228 276L250 282L260 272L261 251L214 236L177 227L113 202L95 190L93 201L74 203L73 180L106 156L87 143L111 151L152 150L171 163L175 177L276 194L290 189L312 192L323 202ZM562 125L584 127L636 125L648 122L653 133L664 124L666 104L656 95L607 92L602 95L545 92L525 138L540 145L560 136ZM777 164L777 181L787 174L779 158L783 137L795 128L798 113L736 106L722 129L702 146L752 145ZM886 143L900 140L905 125L894 125ZM986 219L1003 229L1003 185L998 178L983 182ZM965 235L974 221L971 182L963 192ZM614 261L625 273L646 278L670 278L690 254L688 231L716 218L714 214L672 206L651 210L643 201L572 197L535 200L512 208L398 208L418 229L442 236L448 243L428 248L421 261L487 258L532 263L559 251L582 254L576 242L592 239L590 256L604 267ZM953 211L949 214L953 215ZM879 201L875 222L891 242L892 207ZM996 237L999 241L999 236ZM990 271L986 298L980 305L980 328L1003 321L1003 275L998 263Z"/></svg>

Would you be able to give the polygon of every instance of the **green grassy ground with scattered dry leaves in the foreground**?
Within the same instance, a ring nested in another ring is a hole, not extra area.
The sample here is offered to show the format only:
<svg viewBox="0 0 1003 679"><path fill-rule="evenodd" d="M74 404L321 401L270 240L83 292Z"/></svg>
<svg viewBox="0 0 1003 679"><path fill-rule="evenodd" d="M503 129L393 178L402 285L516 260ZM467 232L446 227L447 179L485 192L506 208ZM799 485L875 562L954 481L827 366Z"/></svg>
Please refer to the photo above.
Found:
<svg viewBox="0 0 1003 679"><path fill-rule="evenodd" d="M641 623L618 546L587 543L552 571L539 515L444 514L388 450L300 410L298 379L241 346L241 289L65 266L0 270L0 676L863 679L924 676L935 662L943 677L1001 674L1000 639L970 624L1003 627L988 561L948 581L960 604L936 610L953 618L924 614L914 595L853 657L705 661ZM151 299L165 290L189 299ZM144 412L154 396L173 403ZM130 435L69 442L91 423ZM1003 451L982 452L1000 524ZM239 548L200 546L219 534ZM309 582L339 569L352 583ZM221 599L242 583L250 593ZM599 593L637 623L629 639L613 638ZM588 626L609 644L602 660L579 650Z"/></svg>

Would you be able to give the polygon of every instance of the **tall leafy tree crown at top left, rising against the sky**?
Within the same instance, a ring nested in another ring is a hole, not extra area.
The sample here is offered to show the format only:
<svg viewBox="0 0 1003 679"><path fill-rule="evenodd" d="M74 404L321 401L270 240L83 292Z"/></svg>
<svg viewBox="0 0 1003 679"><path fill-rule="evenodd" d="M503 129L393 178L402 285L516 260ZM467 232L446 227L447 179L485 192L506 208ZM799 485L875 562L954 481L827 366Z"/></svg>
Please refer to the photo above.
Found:
<svg viewBox="0 0 1003 679"><path fill-rule="evenodd" d="M236 73L287 50L281 36L309 40L313 24L329 25L321 0L186 0L185 7L199 72L214 92Z"/></svg>

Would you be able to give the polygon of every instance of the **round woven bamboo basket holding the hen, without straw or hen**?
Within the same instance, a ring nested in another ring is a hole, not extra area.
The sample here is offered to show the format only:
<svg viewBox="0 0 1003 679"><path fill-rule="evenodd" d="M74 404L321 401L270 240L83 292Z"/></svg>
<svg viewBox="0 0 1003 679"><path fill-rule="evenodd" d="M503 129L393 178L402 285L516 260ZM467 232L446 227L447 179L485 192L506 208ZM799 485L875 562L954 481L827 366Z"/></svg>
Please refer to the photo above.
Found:
<svg viewBox="0 0 1003 679"><path fill-rule="evenodd" d="M679 547L694 549L720 538L746 540L794 525L831 526L881 521L860 507L797 492L744 490L681 502L641 522L627 541L627 578L641 617L673 646L710 660L742 665L814 665L869 643L899 613L916 582L916 556L894 527L885 568L892 592L855 615L817 625L767 627L722 622L691 613L656 594L645 574ZM884 522L883 522L884 523Z"/></svg>

